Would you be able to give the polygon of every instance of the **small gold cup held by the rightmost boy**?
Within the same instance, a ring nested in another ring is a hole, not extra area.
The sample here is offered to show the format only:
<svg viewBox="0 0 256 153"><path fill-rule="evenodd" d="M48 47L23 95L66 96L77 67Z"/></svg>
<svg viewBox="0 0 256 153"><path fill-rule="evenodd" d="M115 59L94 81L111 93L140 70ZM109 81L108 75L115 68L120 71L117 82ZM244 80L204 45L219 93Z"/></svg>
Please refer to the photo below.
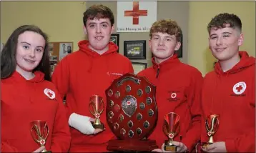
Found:
<svg viewBox="0 0 256 153"><path fill-rule="evenodd" d="M210 137L208 142L205 142L202 144L202 147L206 147L207 145L212 144L213 141L213 136L217 132L217 129L219 127L219 119L218 119L217 114L212 114L206 117L205 119L205 129L207 131L207 136Z"/></svg>

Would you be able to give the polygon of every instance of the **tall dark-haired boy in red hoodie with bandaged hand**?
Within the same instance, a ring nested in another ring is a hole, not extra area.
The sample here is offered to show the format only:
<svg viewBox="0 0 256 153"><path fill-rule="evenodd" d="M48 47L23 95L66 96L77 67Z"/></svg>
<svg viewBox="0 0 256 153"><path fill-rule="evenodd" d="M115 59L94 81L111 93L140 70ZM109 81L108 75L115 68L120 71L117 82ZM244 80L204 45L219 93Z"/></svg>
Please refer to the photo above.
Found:
<svg viewBox="0 0 256 153"><path fill-rule="evenodd" d="M109 42L114 31L114 15L103 5L94 5L84 12L84 33L88 41L78 43L79 51L69 54L56 66L52 80L61 97L67 96L67 115L71 127L70 152L107 152L107 142L114 138L107 126L106 113L100 116L105 128L94 129L89 112L89 99L103 97L114 79L133 73L132 63L117 53L118 46Z"/></svg>

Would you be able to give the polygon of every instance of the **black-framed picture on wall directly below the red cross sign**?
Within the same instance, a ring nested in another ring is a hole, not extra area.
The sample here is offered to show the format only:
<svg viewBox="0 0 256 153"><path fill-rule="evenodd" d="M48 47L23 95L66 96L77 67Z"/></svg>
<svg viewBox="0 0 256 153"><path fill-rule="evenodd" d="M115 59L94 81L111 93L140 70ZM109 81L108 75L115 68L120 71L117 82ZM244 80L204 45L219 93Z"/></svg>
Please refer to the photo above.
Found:
<svg viewBox="0 0 256 153"><path fill-rule="evenodd" d="M128 59L146 59L146 41L124 41L124 56Z"/></svg>

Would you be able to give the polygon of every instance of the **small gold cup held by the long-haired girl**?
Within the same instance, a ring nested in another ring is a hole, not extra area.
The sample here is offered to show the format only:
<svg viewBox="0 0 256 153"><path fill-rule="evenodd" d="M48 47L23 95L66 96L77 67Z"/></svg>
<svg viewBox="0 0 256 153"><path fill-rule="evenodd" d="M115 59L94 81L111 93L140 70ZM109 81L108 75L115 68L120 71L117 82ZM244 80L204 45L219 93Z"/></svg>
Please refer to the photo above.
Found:
<svg viewBox="0 0 256 153"><path fill-rule="evenodd" d="M31 122L30 133L34 141L43 147L49 134L49 128L45 121L36 120ZM51 153L51 151L47 151L46 149L44 149L42 152Z"/></svg>

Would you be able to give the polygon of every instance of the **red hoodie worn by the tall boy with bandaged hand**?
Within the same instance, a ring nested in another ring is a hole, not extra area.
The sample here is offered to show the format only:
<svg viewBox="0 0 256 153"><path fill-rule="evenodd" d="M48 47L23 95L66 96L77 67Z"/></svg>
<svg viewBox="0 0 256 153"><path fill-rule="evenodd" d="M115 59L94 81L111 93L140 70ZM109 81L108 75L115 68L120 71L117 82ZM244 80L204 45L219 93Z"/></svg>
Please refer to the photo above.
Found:
<svg viewBox="0 0 256 153"><path fill-rule="evenodd" d="M89 98L98 94L103 97L106 107L105 90L122 74L133 73L132 63L117 53L118 46L114 43L109 43L109 51L102 55L89 49L88 44L88 41L80 41L79 51L65 56L52 75L61 96L67 95L68 117L73 112L93 117L89 112ZM97 135L82 134L71 127L71 152L107 151L107 142L114 138L114 134L107 126L105 110L100 120L106 129Z"/></svg>

